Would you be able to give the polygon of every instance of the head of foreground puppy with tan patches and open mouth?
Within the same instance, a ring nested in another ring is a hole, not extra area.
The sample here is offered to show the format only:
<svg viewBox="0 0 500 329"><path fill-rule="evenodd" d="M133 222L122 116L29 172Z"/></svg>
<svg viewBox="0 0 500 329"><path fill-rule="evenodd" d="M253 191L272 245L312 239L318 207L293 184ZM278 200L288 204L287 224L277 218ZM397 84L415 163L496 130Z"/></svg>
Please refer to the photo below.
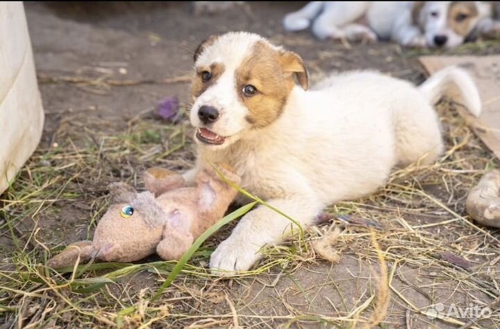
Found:
<svg viewBox="0 0 500 329"><path fill-rule="evenodd" d="M195 141L222 149L281 116L295 80L308 88L301 57L251 33L226 33L194 53L190 121Z"/></svg>

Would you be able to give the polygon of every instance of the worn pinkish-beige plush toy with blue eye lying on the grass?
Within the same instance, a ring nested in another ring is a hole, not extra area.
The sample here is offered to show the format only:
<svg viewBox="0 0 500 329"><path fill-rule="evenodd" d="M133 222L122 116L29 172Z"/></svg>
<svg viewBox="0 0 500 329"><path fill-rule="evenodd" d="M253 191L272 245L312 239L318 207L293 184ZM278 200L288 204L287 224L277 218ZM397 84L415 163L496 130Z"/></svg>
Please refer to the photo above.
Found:
<svg viewBox="0 0 500 329"><path fill-rule="evenodd" d="M217 167L235 184L240 177ZM185 186L181 175L163 168L144 174L147 191L138 193L124 183L110 184L113 201L97 224L94 240L70 245L47 265L71 266L95 258L107 262L133 262L156 253L164 260L178 260L194 239L224 216L238 193L217 172L206 166L196 186Z"/></svg>

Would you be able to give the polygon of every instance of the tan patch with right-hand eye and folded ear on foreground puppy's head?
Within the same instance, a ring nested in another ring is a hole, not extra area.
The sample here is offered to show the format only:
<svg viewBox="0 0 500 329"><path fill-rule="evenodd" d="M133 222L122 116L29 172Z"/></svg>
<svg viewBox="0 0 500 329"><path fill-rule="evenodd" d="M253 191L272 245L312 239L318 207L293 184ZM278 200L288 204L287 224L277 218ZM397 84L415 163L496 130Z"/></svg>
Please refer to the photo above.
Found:
<svg viewBox="0 0 500 329"><path fill-rule="evenodd" d="M283 112L294 77L303 89L308 88L307 71L299 55L257 42L235 72L236 92L249 112L247 122L253 127L273 123Z"/></svg>

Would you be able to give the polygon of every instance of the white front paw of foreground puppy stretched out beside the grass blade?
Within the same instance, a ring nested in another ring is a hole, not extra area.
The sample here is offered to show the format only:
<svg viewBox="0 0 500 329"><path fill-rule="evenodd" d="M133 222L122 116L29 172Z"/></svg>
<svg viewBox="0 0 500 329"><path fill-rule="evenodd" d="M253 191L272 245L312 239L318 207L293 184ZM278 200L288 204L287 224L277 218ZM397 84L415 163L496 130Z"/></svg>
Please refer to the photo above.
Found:
<svg viewBox="0 0 500 329"><path fill-rule="evenodd" d="M210 257L210 270L220 276L247 271L260 258L259 249L258 246L228 238L219 244Z"/></svg>

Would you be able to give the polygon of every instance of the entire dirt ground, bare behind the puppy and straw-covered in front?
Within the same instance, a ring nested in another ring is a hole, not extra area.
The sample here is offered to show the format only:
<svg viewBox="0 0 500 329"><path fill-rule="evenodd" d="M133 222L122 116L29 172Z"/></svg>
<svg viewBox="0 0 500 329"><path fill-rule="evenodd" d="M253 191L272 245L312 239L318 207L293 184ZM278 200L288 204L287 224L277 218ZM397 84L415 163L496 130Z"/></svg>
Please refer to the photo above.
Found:
<svg viewBox="0 0 500 329"><path fill-rule="evenodd" d="M149 296L173 266L156 257L74 276L42 266L63 246L92 237L110 182L141 186L144 168L192 166L188 123L166 123L154 109L171 96L188 106L192 53L209 35L269 37L303 57L313 82L349 69L422 82L419 55L500 53L498 41L428 51L284 33L283 15L302 4L251 3L206 17L194 17L189 3L25 4L46 123L38 150L0 197L0 328L358 328L378 318L379 328L500 328L500 231L471 224L465 213L467 190L499 162L451 102L437 109L448 146L441 161L395 171L376 195L332 205L328 213L365 224L310 229L306 241L263 251L246 276L206 271L210 251L234 224L203 244L155 302ZM380 226L382 258L367 222ZM328 241L335 227L342 234ZM324 260L318 241L340 261ZM442 319L427 315L437 303ZM451 305L492 311L446 314Z"/></svg>

